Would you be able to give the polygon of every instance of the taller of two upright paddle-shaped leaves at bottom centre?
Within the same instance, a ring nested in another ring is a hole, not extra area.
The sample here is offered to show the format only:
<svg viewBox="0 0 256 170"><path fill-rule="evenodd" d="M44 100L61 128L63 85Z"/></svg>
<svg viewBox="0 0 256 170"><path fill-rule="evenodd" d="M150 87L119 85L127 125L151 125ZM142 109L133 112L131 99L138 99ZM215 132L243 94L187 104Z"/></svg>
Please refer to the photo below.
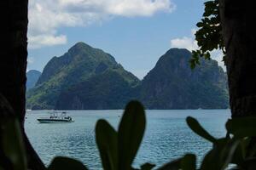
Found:
<svg viewBox="0 0 256 170"><path fill-rule="evenodd" d="M138 101L129 102L119 124L119 169L131 169L132 161L143 139L145 126L143 105Z"/></svg>

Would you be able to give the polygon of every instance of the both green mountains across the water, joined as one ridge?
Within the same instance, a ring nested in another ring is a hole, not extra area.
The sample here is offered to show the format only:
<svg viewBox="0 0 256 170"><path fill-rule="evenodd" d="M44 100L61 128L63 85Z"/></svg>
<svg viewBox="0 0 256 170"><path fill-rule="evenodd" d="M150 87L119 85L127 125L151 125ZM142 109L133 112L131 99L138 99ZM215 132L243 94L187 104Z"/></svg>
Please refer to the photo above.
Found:
<svg viewBox="0 0 256 170"><path fill-rule="evenodd" d="M34 88L27 93L28 109L123 109L139 99L148 109L227 108L226 77L217 61L201 60L191 71L190 52L172 48L140 81L112 55L76 43L53 57Z"/></svg>

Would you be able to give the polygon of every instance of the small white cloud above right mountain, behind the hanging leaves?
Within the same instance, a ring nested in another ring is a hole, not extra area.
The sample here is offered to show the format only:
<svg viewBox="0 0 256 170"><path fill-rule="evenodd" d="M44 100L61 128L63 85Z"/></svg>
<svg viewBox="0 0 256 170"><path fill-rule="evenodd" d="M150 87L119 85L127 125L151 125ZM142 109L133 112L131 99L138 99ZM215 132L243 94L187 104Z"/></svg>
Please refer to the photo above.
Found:
<svg viewBox="0 0 256 170"><path fill-rule="evenodd" d="M195 29L191 30L190 37L182 37L182 38L174 38L171 40L171 48L187 48L189 51L198 49L197 41L195 41ZM218 65L220 65L224 71L226 70L224 61L223 61L223 53L221 50L213 50L211 52L212 59L218 61Z"/></svg>

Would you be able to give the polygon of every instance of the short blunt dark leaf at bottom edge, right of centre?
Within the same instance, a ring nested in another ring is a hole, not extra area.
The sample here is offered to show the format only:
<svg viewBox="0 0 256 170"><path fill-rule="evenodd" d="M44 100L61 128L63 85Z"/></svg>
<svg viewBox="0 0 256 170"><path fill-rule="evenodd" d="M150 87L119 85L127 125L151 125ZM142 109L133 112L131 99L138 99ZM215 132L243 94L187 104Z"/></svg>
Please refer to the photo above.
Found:
<svg viewBox="0 0 256 170"><path fill-rule="evenodd" d="M196 157L194 154L187 154L181 161L181 168L183 170L195 170L196 169Z"/></svg>

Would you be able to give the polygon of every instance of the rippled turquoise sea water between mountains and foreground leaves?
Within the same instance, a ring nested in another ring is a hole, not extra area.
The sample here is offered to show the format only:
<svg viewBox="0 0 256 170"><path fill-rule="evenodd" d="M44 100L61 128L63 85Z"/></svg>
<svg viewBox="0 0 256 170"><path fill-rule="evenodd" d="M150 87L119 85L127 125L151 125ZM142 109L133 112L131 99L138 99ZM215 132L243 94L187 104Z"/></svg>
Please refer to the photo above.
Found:
<svg viewBox="0 0 256 170"><path fill-rule="evenodd" d="M49 116L48 111L28 111L26 133L38 155L45 164L54 156L70 156L90 169L101 169L101 161L95 142L95 125L100 118L107 119L117 128L123 111L68 111L73 123L38 123L40 116ZM213 136L225 135L224 122L230 110L172 110L146 111L147 127L143 144L137 153L134 167L150 161L162 165L185 153L195 153L200 159L211 144L193 133L185 118L194 116Z"/></svg>

